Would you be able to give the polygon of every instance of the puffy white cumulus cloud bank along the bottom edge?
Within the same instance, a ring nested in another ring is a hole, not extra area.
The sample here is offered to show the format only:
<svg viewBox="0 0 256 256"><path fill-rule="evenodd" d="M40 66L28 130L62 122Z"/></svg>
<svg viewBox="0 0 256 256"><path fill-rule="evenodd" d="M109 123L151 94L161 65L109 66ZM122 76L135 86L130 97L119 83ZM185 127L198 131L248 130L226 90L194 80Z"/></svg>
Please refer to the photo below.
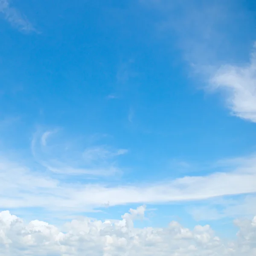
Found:
<svg viewBox="0 0 256 256"><path fill-rule="evenodd" d="M206 226L193 230L172 221L164 228L134 228L133 221L144 207L131 209L122 220L74 219L62 228L44 221L26 224L9 211L0 212L0 256L253 256L256 253L256 217L236 220L236 239L224 241ZM127 221L129 219L129 221Z"/></svg>

